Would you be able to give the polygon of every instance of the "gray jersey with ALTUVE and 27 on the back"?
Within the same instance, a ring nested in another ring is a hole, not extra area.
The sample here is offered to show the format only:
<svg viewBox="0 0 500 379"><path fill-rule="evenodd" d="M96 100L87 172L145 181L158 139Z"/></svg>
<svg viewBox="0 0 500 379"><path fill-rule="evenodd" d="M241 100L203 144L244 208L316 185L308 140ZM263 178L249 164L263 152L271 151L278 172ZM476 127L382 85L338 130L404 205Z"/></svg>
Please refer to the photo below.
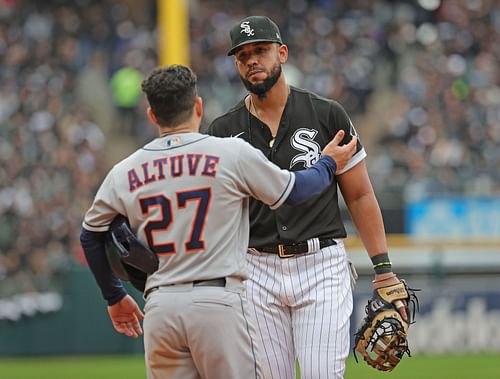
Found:
<svg viewBox="0 0 500 379"><path fill-rule="evenodd" d="M274 209L294 182L293 173L241 139L172 134L111 169L83 227L104 232L118 213L128 217L137 237L159 256L159 269L146 288L246 278L248 198Z"/></svg>

